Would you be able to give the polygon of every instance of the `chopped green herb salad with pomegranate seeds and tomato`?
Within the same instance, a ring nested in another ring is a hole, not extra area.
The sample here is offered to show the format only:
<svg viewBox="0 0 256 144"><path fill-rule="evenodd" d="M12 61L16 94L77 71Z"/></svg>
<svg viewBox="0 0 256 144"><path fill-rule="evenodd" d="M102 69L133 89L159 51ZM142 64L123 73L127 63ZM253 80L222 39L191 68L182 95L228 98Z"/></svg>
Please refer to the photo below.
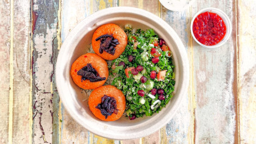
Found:
<svg viewBox="0 0 256 144"><path fill-rule="evenodd" d="M125 25L128 44L109 66L113 86L126 97L129 119L151 116L173 97L174 65L172 52L153 29L132 29Z"/></svg>

